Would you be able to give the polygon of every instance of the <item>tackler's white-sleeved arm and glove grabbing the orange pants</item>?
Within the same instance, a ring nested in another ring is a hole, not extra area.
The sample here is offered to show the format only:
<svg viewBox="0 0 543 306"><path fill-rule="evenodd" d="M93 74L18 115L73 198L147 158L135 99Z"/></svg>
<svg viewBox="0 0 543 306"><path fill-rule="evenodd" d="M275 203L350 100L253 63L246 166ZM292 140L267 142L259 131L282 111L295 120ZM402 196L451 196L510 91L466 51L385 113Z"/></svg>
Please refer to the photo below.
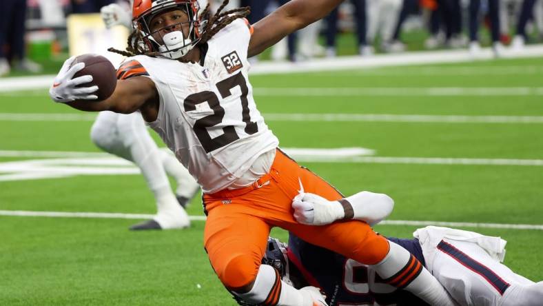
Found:
<svg viewBox="0 0 543 306"><path fill-rule="evenodd" d="M356 219L373 226L389 216L394 201L386 194L358 192L339 201L328 201L309 192L292 201L296 221L308 225L325 225L336 220Z"/></svg>

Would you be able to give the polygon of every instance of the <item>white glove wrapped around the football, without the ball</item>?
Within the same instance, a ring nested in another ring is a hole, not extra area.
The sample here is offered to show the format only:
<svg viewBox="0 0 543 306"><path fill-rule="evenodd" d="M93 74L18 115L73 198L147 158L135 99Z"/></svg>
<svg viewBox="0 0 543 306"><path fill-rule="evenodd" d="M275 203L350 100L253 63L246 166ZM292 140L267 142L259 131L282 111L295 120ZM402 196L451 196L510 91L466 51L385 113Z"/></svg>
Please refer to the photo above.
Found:
<svg viewBox="0 0 543 306"><path fill-rule="evenodd" d="M96 94L92 94L98 90L98 86L76 87L77 85L92 82L92 75L83 75L74 77L79 70L85 68L85 63L76 63L72 67L75 57L70 57L62 65L61 71L54 78L54 83L49 89L49 96L55 102L66 103L75 100L95 100L98 99Z"/></svg>

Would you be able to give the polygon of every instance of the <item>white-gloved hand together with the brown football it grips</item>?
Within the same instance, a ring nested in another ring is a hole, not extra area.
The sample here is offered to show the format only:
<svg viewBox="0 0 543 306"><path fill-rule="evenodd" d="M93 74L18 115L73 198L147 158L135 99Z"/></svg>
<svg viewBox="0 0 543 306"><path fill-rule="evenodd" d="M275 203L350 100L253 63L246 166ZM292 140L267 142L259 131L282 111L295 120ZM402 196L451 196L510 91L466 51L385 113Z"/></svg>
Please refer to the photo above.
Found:
<svg viewBox="0 0 543 306"><path fill-rule="evenodd" d="M83 54L64 62L49 94L60 103L102 101L113 94L116 83L115 68L109 60L101 55Z"/></svg>

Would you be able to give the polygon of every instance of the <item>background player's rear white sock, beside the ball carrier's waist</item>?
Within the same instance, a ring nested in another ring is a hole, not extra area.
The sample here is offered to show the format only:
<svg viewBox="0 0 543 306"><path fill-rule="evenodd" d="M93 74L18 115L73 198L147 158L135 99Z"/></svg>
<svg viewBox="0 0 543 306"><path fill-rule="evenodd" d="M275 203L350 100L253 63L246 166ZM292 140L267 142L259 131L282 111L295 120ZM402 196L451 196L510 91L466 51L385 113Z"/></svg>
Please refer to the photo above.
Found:
<svg viewBox="0 0 543 306"><path fill-rule="evenodd" d="M176 195L192 198L200 189L200 185L198 185L192 175L189 174L189 171L183 167L175 156L164 150L159 151L164 170L166 170L166 173L172 176L177 183Z"/></svg>

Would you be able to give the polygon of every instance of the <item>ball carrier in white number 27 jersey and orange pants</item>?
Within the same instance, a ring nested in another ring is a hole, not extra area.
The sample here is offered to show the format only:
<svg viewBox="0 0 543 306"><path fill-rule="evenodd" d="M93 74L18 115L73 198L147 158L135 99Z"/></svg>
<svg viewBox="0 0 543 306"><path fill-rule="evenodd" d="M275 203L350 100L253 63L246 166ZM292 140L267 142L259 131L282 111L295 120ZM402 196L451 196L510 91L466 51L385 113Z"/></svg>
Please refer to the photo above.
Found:
<svg viewBox="0 0 543 306"><path fill-rule="evenodd" d="M260 265L272 227L370 265L387 283L433 305L453 305L440 283L407 250L350 221L303 225L292 216L300 184L307 192L342 195L278 149L248 81L249 57L321 19L341 0L292 0L250 26L249 8L215 14L196 0L135 0L134 32L103 101L92 76L74 74L68 59L50 88L54 101L85 111L132 113L162 137L203 189L204 245L218 278L241 299L263 305L326 305L315 287L296 289Z"/></svg>

